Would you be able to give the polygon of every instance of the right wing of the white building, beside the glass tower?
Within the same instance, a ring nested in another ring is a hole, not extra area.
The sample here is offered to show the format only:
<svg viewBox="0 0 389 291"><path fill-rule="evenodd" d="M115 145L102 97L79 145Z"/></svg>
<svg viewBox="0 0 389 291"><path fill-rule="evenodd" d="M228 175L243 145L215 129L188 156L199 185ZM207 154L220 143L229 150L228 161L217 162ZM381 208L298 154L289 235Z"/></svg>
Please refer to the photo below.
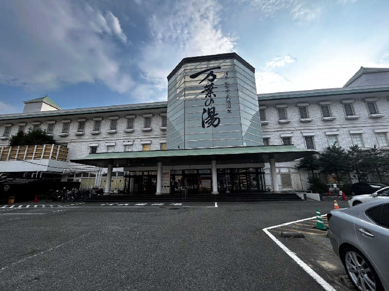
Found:
<svg viewBox="0 0 389 291"><path fill-rule="evenodd" d="M345 149L377 145L389 150L388 98L389 69L364 67L343 88L258 94L264 144L322 151L336 142ZM277 164L280 189L309 188L307 173L296 164ZM269 176L266 185L271 185Z"/></svg>

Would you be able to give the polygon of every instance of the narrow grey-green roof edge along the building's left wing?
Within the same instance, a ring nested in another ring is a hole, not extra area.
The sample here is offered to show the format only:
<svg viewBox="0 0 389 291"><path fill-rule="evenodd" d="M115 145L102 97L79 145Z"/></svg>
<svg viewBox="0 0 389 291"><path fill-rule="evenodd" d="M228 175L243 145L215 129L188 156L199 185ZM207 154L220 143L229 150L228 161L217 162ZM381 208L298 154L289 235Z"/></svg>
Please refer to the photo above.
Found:
<svg viewBox="0 0 389 291"><path fill-rule="evenodd" d="M87 107L77 109L65 109L65 110L50 110L40 112L29 113L12 113L1 114L1 120L13 120L13 119L25 119L25 118L40 118L40 117L54 117L64 115L80 115L86 113L109 113L119 111L132 111L132 110L154 110L158 108L167 108L167 102L151 102L151 103L139 103L139 104L124 104L124 105L112 105L102 107Z"/></svg>

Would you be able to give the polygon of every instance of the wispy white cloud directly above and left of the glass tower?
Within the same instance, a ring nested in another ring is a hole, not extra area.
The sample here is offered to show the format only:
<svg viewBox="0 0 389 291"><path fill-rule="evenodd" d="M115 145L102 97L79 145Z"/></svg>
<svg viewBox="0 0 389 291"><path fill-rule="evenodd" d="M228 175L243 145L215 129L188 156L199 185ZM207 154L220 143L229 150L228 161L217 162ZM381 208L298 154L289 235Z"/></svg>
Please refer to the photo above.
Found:
<svg viewBox="0 0 389 291"><path fill-rule="evenodd" d="M158 10L151 4L153 40L142 48L139 62L155 92L153 100L166 99L166 77L182 58L235 50L235 38L221 30L218 5L207 0L159 3Z"/></svg>

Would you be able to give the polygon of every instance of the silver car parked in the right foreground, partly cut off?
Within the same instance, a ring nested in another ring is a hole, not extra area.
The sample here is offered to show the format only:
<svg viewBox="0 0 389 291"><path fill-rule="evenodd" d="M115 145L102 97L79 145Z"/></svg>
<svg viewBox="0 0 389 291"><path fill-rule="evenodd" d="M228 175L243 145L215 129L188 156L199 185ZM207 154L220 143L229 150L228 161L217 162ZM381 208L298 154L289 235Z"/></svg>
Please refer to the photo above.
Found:
<svg viewBox="0 0 389 291"><path fill-rule="evenodd" d="M389 291L389 201L374 200L327 214L329 237L359 290Z"/></svg>

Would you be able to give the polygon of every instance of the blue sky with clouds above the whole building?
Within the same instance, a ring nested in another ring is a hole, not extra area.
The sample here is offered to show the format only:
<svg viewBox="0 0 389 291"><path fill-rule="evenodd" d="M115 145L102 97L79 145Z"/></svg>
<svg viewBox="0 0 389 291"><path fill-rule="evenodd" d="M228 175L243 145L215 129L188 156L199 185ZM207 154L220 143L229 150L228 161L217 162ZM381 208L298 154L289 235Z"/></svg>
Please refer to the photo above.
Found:
<svg viewBox="0 0 389 291"><path fill-rule="evenodd" d="M389 67L387 0L12 0L0 9L0 114L166 101L182 58L237 52L257 93L342 87Z"/></svg>

